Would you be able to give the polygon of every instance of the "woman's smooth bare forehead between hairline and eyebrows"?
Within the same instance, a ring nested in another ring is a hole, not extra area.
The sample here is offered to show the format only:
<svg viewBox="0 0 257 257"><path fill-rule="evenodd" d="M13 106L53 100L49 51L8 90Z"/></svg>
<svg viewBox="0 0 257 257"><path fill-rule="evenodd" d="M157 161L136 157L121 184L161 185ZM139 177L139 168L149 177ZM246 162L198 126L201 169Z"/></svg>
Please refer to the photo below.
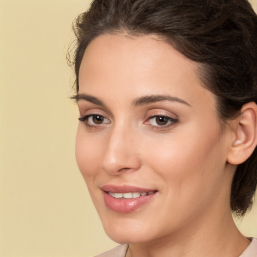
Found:
<svg viewBox="0 0 257 257"><path fill-rule="evenodd" d="M105 34L95 38L84 53L79 93L97 93L114 101L117 94L123 100L147 94L171 94L190 104L197 104L204 94L214 100L202 87L198 68L157 36Z"/></svg>

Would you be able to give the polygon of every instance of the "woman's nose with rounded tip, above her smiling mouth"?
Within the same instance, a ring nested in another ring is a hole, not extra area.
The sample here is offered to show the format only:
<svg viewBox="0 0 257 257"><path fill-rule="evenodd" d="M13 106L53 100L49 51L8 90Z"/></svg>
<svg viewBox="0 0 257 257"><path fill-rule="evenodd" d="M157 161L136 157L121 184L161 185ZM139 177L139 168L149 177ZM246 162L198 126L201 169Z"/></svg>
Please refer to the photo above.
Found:
<svg viewBox="0 0 257 257"><path fill-rule="evenodd" d="M102 168L110 175L136 171L141 166L139 141L136 133L124 126L114 128L107 139L102 157Z"/></svg>

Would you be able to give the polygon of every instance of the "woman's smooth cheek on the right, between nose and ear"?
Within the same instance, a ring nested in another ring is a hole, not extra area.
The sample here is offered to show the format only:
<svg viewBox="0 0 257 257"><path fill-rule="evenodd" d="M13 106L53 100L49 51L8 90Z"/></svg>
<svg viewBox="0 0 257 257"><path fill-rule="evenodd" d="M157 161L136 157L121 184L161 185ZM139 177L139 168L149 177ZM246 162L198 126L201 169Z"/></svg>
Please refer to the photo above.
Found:
<svg viewBox="0 0 257 257"><path fill-rule="evenodd" d="M215 128L215 125L214 125ZM185 196L185 201L192 199L203 190L215 191L215 183L222 177L226 163L222 153L222 138L218 129L205 126L202 131L198 126L191 127L181 134L155 144L149 151L151 166L167 185L172 197Z"/></svg>

